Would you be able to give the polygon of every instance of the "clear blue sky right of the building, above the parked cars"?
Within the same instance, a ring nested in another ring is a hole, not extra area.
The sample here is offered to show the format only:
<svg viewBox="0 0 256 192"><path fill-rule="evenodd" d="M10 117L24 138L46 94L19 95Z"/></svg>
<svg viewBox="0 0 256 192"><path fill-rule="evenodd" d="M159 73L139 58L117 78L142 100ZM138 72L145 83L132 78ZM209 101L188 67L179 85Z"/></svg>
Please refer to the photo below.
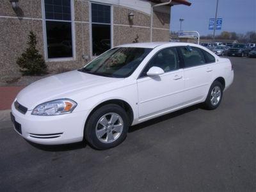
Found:
<svg viewBox="0 0 256 192"><path fill-rule="evenodd" d="M191 6L177 5L171 11L171 31L198 31L200 35L213 34L209 30L209 19L215 18L217 0L187 0ZM246 33L256 31L256 0L219 0L217 18L222 18L221 31Z"/></svg>

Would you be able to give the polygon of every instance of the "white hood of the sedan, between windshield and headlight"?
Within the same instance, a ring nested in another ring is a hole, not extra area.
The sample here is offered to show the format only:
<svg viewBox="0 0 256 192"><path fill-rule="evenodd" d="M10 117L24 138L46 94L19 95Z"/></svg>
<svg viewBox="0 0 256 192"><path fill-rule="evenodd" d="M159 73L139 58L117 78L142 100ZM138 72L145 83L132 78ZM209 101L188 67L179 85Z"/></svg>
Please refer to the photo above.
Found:
<svg viewBox="0 0 256 192"><path fill-rule="evenodd" d="M99 89L99 86L121 80L120 78L95 76L73 70L46 77L45 79L29 84L29 86L19 92L17 101L29 110L32 110L38 104L49 100L62 98L76 99L72 95L79 94L81 90L83 90L83 94L85 92L84 97L97 95L97 92L104 90Z"/></svg>

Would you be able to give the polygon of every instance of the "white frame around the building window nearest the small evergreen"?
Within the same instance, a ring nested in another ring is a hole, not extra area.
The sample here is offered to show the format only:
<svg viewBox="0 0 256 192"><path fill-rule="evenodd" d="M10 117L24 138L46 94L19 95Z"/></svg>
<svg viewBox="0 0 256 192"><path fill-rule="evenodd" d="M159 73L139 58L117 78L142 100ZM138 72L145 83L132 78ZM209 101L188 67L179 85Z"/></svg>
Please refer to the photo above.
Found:
<svg viewBox="0 0 256 192"><path fill-rule="evenodd" d="M70 0L70 16L71 20L57 20L57 19L45 19L45 0L41 0L42 4L42 26L43 26L43 39L44 39L44 58L46 62L51 61L74 61L76 60L76 31L74 26L74 0ZM48 58L48 45L47 45L47 31L46 31L46 21L56 21L56 22L70 22L71 23L71 38L72 38L72 57L68 58Z"/></svg>

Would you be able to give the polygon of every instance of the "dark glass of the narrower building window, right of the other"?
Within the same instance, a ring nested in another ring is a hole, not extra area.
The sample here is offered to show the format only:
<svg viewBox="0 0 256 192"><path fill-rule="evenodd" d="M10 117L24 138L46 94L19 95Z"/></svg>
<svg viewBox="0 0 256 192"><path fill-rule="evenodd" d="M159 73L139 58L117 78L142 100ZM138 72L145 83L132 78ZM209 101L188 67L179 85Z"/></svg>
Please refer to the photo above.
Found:
<svg viewBox="0 0 256 192"><path fill-rule="evenodd" d="M92 54L111 48L111 6L92 3Z"/></svg>

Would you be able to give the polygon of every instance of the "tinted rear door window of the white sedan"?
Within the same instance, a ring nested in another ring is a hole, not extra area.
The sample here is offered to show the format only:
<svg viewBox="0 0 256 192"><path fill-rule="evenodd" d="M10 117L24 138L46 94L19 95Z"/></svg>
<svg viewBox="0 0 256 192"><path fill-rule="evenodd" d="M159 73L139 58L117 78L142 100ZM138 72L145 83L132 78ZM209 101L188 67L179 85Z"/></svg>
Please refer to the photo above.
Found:
<svg viewBox="0 0 256 192"><path fill-rule="evenodd" d="M205 61L204 53L197 47L180 47L182 58L184 60L184 67L195 67L198 65L204 65Z"/></svg>

